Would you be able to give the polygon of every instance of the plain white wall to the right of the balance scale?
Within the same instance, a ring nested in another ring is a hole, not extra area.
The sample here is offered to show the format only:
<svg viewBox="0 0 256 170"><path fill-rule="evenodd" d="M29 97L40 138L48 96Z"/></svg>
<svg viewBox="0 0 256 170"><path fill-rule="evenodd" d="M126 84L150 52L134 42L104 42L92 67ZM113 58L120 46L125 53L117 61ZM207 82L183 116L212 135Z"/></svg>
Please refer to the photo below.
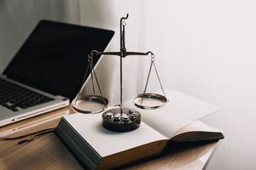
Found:
<svg viewBox="0 0 256 170"><path fill-rule="evenodd" d="M158 54L165 86L224 107L206 118L226 136L208 169L254 169L256 2L147 1L146 6L145 46Z"/></svg>

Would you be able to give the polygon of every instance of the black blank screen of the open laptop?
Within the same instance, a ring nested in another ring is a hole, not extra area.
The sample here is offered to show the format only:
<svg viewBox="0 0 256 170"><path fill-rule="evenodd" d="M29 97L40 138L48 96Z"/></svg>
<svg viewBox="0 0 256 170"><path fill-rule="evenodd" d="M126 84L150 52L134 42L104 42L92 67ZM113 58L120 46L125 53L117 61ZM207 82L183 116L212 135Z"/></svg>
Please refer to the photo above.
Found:
<svg viewBox="0 0 256 170"><path fill-rule="evenodd" d="M87 55L93 49L104 51L113 34L108 30L41 20L3 74L72 100L82 86ZM99 58L94 58L94 65Z"/></svg>

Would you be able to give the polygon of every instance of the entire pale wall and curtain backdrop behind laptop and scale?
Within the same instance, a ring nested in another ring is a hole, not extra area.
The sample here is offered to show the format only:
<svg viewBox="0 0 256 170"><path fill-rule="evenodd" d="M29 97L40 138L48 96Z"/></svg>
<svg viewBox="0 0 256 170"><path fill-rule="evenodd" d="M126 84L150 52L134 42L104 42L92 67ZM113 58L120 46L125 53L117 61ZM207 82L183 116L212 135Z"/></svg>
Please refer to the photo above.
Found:
<svg viewBox="0 0 256 170"><path fill-rule="evenodd" d="M164 88L224 108L204 119L225 134L207 169L255 169L255 7L253 0L3 0L0 71L41 18L113 29L109 50L118 50L119 18L129 13L126 48L154 51ZM143 90L148 58L138 58L124 61L125 99ZM119 102L118 64L110 56L97 69L104 94L113 103ZM149 88L159 88L154 77L150 82Z"/></svg>

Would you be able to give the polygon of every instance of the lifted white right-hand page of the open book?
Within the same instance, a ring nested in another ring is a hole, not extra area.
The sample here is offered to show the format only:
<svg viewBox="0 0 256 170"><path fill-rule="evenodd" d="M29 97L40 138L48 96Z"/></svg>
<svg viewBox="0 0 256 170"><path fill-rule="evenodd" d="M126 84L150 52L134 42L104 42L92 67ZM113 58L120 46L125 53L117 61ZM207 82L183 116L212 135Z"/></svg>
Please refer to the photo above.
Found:
<svg viewBox="0 0 256 170"><path fill-rule="evenodd" d="M133 99L125 102L124 107L139 111L143 122L169 139L180 128L220 109L216 105L170 89L166 90L166 98L169 101L155 110L140 109L134 105Z"/></svg>

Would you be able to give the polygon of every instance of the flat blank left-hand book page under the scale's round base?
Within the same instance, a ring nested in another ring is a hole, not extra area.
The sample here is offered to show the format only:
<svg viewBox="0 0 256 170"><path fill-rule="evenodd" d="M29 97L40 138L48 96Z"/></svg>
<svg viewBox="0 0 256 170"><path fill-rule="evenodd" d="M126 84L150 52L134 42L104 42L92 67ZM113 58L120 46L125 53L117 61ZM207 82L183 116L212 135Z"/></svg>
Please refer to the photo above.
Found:
<svg viewBox="0 0 256 170"><path fill-rule="evenodd" d="M77 113L64 118L102 157L167 139L143 122L134 131L115 133L102 127L102 114Z"/></svg>

